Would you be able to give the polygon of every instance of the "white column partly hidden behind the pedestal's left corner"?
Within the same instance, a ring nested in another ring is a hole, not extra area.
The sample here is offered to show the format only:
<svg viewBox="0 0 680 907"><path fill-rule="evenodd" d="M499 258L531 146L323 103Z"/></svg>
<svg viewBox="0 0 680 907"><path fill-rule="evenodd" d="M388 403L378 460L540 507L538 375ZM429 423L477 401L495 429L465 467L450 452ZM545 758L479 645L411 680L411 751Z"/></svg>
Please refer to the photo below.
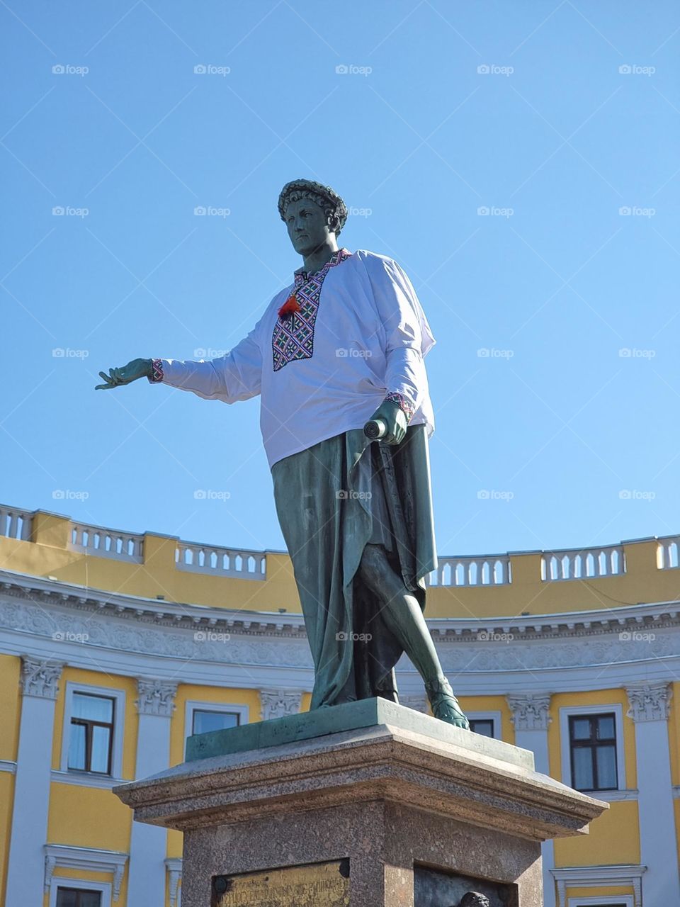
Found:
<svg viewBox="0 0 680 907"><path fill-rule="evenodd" d="M175 709L177 684L153 678L138 678L140 716L135 778L156 775L170 766L170 718ZM133 822L130 836L128 903L165 907L165 859L167 831Z"/></svg>

